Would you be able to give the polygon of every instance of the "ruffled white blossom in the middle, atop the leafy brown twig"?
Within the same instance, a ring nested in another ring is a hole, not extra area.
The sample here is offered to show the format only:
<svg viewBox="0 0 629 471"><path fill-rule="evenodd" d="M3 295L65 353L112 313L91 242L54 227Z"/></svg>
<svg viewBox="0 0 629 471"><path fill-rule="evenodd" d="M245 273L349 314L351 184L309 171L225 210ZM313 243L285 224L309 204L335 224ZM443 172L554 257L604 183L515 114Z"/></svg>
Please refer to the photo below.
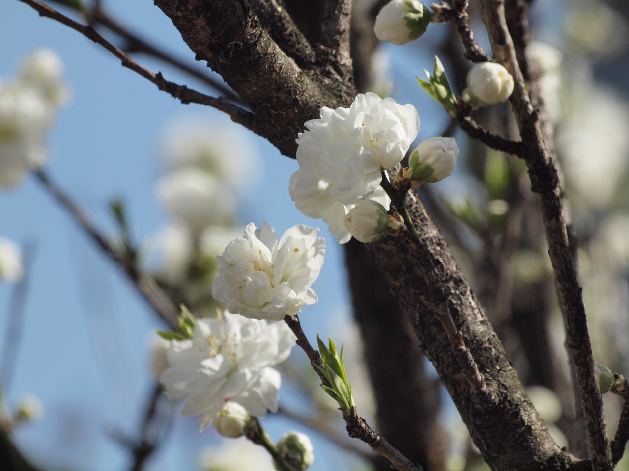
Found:
<svg viewBox="0 0 629 471"><path fill-rule="evenodd" d="M301 306L318 301L310 286L319 276L325 239L318 228L295 225L277 241L266 222L248 224L243 239L231 241L222 256L212 286L214 299L228 310L254 319L282 320Z"/></svg>

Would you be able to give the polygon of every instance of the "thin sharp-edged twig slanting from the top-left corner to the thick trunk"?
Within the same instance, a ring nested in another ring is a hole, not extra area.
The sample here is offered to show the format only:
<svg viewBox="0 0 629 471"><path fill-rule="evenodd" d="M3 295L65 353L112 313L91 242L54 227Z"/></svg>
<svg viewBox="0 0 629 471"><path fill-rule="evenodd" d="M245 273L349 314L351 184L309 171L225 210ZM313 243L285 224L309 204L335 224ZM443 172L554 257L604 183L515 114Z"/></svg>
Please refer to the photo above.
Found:
<svg viewBox="0 0 629 471"><path fill-rule="evenodd" d="M133 72L139 73L142 77L146 78L153 84L157 85L157 88L167 92L176 99L179 99L183 104L198 103L201 105L214 107L231 117L231 120L242 124L248 129L251 129L255 133L253 124L253 113L246 111L222 98L211 97L196 90L189 89L186 85L178 85L174 82L165 80L161 72L151 72L142 65L138 64L124 51L120 50L116 46L112 45L103 36L99 35L92 26L86 26L81 23L77 23L73 19L68 18L64 14L59 13L57 10L50 8L49 6L38 2L37 0L18 0L31 6L33 9L39 12L40 16L47 16L54 19L65 26L69 26L75 31L78 31L82 35L86 36L95 43L103 46L106 50L111 52L115 57L121 60L123 67L130 68Z"/></svg>

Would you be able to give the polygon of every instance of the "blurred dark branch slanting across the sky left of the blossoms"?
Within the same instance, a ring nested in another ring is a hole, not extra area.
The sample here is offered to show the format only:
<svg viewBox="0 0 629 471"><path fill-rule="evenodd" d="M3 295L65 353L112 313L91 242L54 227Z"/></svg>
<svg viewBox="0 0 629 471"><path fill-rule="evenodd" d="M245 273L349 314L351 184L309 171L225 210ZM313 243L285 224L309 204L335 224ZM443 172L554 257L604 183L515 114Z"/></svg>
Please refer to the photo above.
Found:
<svg viewBox="0 0 629 471"><path fill-rule="evenodd" d="M143 298L153 308L153 310L161 317L165 322L169 323L173 327L177 327L177 308L173 305L170 299L164 294L164 291L160 290L159 286L155 283L153 278L140 272L135 265L135 261L129 257L120 254L109 241L104 237L99 230L94 227L86 213L79 208L79 206L72 201L72 199L66 195L66 193L45 173L43 170L33 171L36 178L42 183L43 188L47 190L50 195L62 205L62 207L69 212L72 218L77 222L81 229L87 234L87 236L94 241L97 247L103 251L103 253L113 260L125 273L127 278L135 284L138 291L142 293Z"/></svg>

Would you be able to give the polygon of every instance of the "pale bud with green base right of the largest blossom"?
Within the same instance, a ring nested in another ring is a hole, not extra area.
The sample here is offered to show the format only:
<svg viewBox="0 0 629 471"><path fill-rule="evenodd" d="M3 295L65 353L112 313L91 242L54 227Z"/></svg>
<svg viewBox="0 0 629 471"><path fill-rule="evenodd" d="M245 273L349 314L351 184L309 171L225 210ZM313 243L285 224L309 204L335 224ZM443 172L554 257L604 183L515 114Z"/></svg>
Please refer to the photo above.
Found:
<svg viewBox="0 0 629 471"><path fill-rule="evenodd" d="M413 169L413 180L433 183L452 173L458 157L454 138L430 138L413 150L408 165Z"/></svg>

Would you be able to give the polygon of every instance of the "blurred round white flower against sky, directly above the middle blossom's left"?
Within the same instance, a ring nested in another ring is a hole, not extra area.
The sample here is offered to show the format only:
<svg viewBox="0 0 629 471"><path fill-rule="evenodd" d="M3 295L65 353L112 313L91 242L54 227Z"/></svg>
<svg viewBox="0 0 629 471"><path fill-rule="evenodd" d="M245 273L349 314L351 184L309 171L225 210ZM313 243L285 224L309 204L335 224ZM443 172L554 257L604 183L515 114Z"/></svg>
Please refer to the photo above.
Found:
<svg viewBox="0 0 629 471"><path fill-rule="evenodd" d="M228 223L236 208L233 193L198 167L182 167L163 176L157 183L157 196L192 230Z"/></svg>

